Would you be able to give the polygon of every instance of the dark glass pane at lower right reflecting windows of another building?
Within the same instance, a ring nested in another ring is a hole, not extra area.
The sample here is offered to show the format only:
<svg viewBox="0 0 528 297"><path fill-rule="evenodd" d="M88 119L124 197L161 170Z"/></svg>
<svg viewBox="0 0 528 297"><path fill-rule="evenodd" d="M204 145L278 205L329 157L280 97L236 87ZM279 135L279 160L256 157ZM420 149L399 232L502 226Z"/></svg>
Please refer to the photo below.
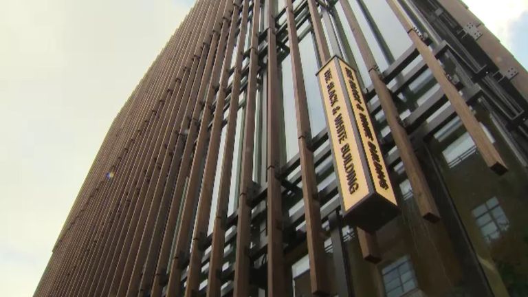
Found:
<svg viewBox="0 0 528 297"><path fill-rule="evenodd" d="M474 144L459 118L444 124L428 140L428 148L493 294L528 296L527 168L489 111L478 102L472 108L507 164L507 173L496 175L478 153L464 154Z"/></svg>

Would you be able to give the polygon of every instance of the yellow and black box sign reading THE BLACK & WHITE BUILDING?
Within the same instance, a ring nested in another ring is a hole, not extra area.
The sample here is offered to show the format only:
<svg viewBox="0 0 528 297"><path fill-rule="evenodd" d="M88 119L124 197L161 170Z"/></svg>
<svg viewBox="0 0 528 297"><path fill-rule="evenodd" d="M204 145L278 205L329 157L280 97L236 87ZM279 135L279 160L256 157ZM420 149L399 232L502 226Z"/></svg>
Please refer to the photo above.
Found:
<svg viewBox="0 0 528 297"><path fill-rule="evenodd" d="M337 57L320 69L318 78L343 212L360 228L375 231L398 210L358 78Z"/></svg>

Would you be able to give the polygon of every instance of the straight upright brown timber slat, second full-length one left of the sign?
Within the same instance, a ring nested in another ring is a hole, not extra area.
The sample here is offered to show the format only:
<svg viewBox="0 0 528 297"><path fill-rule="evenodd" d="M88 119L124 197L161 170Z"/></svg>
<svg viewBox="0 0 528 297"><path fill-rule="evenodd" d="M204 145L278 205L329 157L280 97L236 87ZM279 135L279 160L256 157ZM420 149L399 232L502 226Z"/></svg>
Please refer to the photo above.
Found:
<svg viewBox="0 0 528 297"><path fill-rule="evenodd" d="M278 171L281 168L278 148L278 116L281 100L277 98L277 41L275 2L267 0L267 296L284 296L283 197ZM238 247L237 247L238 248Z"/></svg>

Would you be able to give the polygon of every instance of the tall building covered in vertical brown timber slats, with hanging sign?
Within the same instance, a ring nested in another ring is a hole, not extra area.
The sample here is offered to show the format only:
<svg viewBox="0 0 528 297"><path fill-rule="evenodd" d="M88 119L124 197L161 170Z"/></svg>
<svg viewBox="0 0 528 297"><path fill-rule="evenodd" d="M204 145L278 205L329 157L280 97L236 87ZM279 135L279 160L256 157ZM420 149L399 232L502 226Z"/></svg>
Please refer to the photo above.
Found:
<svg viewBox="0 0 528 297"><path fill-rule="evenodd" d="M35 296L528 296L527 111L459 0L198 0Z"/></svg>

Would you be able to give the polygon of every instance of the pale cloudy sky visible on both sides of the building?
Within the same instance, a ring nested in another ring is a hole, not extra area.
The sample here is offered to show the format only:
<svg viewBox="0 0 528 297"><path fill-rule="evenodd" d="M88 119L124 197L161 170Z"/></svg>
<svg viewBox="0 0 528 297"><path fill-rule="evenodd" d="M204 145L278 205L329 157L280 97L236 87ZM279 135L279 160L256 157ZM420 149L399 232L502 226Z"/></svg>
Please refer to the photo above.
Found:
<svg viewBox="0 0 528 297"><path fill-rule="evenodd" d="M528 0L465 2L526 67ZM111 121L192 3L0 0L2 296L32 296Z"/></svg>

